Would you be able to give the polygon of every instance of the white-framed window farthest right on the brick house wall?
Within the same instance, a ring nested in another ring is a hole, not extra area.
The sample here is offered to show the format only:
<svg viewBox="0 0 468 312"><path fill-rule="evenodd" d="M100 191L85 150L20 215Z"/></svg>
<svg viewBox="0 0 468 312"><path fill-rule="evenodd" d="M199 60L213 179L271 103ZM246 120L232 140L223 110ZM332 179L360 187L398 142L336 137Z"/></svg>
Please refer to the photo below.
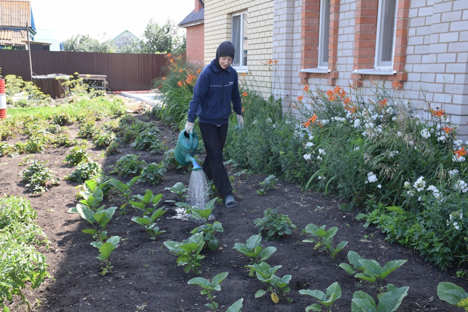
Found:
<svg viewBox="0 0 468 312"><path fill-rule="evenodd" d="M375 45L375 68L392 69L395 50L397 0L380 0Z"/></svg>

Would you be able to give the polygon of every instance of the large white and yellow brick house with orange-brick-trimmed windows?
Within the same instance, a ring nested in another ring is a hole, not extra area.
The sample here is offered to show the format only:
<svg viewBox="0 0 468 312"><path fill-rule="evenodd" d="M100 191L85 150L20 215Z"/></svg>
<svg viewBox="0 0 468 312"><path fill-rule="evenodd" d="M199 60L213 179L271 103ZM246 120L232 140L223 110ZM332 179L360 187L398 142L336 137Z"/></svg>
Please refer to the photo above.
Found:
<svg viewBox="0 0 468 312"><path fill-rule="evenodd" d="M425 96L468 135L468 0L205 1L205 64L223 40L242 51L233 66L260 82L270 78L260 62L278 60L285 107L305 82L397 80L416 109Z"/></svg>

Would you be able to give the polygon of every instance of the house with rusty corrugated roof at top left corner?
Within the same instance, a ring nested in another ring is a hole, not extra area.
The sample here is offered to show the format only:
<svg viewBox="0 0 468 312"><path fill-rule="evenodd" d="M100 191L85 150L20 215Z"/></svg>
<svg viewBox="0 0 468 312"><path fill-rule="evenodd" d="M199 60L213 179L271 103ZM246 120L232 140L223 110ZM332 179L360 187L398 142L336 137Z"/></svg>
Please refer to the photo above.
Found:
<svg viewBox="0 0 468 312"><path fill-rule="evenodd" d="M0 48L25 50L34 40L36 26L31 3L21 0L0 0Z"/></svg>

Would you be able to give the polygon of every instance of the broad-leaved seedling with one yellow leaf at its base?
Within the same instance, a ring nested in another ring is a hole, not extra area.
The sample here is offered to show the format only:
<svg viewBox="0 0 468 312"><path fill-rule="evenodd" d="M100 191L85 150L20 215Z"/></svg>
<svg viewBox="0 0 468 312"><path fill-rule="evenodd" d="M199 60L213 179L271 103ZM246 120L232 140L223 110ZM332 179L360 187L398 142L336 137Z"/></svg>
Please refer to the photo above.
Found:
<svg viewBox="0 0 468 312"><path fill-rule="evenodd" d="M285 295L291 288L287 286L291 280L291 275L285 275L279 278L275 275L275 272L282 266L271 267L265 261L260 264L248 265L248 268L256 272L257 279L267 283L267 290L258 290L255 293L255 297L262 297L267 292L270 292L271 300L274 303L278 303L281 296Z"/></svg>

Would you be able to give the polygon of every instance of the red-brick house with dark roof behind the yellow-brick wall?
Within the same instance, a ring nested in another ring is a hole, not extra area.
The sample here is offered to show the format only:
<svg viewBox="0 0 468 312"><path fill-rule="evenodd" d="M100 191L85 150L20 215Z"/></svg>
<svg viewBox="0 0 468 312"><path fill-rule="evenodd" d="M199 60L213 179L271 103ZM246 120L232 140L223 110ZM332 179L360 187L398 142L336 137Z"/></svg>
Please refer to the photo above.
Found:
<svg viewBox="0 0 468 312"><path fill-rule="evenodd" d="M205 61L205 3L195 0L195 9L179 23L180 28L187 30L186 55L192 63Z"/></svg>

